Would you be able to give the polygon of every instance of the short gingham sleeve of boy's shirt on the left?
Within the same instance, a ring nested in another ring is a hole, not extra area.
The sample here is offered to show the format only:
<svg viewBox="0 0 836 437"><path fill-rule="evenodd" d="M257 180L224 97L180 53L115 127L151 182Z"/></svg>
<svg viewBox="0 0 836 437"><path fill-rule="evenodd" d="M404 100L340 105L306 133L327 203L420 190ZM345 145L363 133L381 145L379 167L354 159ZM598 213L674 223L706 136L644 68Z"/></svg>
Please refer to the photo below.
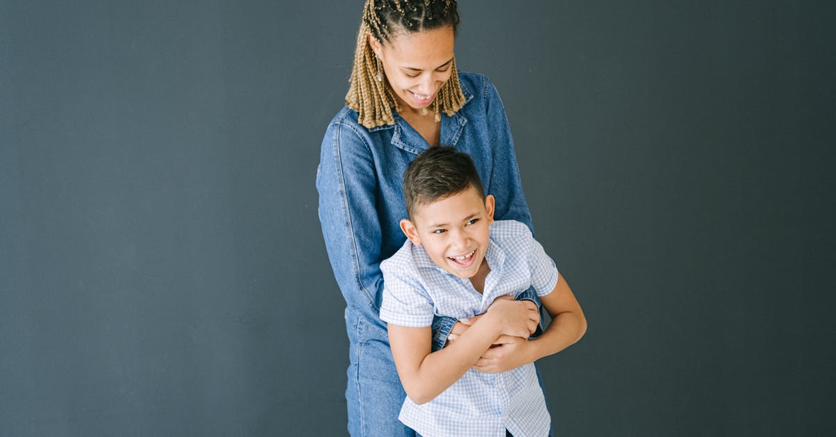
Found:
<svg viewBox="0 0 836 437"><path fill-rule="evenodd" d="M408 263L397 262L397 257L380 266L385 278L380 319L397 326L431 326L434 309L421 276Z"/></svg>

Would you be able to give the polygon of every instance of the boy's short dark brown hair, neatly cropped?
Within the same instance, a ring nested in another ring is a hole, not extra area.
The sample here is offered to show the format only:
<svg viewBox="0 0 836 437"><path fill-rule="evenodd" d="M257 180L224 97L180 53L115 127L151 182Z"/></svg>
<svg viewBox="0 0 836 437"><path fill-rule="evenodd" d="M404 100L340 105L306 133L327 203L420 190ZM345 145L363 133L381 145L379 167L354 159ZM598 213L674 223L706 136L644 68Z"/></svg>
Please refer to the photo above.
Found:
<svg viewBox="0 0 836 437"><path fill-rule="evenodd" d="M404 173L404 201L410 220L415 207L433 203L467 188L476 188L485 198L482 179L473 160L453 147L430 147L421 153Z"/></svg>

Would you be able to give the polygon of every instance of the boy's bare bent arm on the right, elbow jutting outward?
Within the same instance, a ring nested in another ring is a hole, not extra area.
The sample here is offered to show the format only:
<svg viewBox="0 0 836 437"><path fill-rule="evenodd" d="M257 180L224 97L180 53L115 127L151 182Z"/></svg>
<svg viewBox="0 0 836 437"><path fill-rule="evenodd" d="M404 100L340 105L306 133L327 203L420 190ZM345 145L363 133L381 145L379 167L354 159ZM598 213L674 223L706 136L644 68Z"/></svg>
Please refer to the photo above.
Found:
<svg viewBox="0 0 836 437"><path fill-rule="evenodd" d="M505 372L542 357L560 352L584 337L586 317L566 280L558 274L558 283L551 293L540 296L552 322L543 335L533 340L502 336L498 347L485 352L473 368L486 373Z"/></svg>

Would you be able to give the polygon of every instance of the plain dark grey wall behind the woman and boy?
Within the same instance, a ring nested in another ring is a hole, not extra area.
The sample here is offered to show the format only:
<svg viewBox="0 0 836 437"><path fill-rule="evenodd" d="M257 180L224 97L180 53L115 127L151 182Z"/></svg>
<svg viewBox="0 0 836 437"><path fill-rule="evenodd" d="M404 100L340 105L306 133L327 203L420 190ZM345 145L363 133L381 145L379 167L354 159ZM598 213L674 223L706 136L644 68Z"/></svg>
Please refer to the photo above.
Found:
<svg viewBox="0 0 836 437"><path fill-rule="evenodd" d="M0 2L0 434L345 433L314 172L361 3ZM589 316L561 434L836 432L833 6L460 9Z"/></svg>

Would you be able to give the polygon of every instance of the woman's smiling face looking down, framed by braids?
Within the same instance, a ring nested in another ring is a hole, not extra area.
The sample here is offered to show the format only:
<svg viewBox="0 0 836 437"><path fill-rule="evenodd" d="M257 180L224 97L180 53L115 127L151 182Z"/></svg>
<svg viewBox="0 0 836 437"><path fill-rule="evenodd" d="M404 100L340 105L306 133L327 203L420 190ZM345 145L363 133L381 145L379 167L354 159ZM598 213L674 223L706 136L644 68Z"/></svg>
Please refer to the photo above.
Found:
<svg viewBox="0 0 836 437"><path fill-rule="evenodd" d="M452 27L393 33L389 41L370 37L386 80L401 104L421 110L450 79L455 35Z"/></svg>

